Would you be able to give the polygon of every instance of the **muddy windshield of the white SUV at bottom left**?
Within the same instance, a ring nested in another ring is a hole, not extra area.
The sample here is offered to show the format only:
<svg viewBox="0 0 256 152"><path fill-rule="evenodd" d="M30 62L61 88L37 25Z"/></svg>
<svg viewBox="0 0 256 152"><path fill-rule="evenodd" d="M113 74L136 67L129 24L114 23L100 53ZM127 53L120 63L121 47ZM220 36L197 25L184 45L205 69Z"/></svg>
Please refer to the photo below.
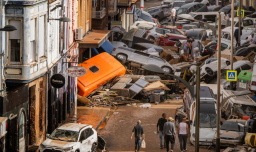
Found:
<svg viewBox="0 0 256 152"><path fill-rule="evenodd" d="M78 135L79 135L79 132L56 129L51 134L50 139L76 142Z"/></svg>

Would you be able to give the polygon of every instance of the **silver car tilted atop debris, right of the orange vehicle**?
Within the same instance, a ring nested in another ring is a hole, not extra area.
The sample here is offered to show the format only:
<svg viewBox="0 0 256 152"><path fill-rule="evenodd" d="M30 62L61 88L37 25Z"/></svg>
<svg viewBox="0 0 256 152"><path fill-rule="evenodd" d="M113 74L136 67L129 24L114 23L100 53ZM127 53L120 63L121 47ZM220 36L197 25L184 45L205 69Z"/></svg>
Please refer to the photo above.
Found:
<svg viewBox="0 0 256 152"><path fill-rule="evenodd" d="M166 73L175 72L175 69L166 60L135 49L119 47L115 51L112 51L111 55L115 56L122 63L130 61L142 65L155 64Z"/></svg>

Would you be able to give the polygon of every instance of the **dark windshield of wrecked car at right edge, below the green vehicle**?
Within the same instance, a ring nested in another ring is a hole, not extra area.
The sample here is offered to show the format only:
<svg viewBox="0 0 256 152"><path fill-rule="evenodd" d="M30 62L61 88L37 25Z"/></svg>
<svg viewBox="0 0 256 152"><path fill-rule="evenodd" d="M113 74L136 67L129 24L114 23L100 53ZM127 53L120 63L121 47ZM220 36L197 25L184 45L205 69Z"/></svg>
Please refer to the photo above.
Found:
<svg viewBox="0 0 256 152"><path fill-rule="evenodd" d="M256 114L256 106L234 104L233 108L234 113L238 115L239 118L250 116L250 114Z"/></svg>

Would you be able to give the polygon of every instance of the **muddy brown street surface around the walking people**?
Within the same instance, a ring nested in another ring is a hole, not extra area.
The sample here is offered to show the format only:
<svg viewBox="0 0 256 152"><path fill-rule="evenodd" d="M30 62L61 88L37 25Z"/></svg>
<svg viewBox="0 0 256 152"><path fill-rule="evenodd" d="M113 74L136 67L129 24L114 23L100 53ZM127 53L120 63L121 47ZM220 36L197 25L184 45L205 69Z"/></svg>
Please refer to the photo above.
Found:
<svg viewBox="0 0 256 152"><path fill-rule="evenodd" d="M106 149L109 152L133 151L134 138L130 139L132 129L136 125L137 120L141 120L146 138L146 149L141 149L141 151L166 151L166 149L160 149L159 136L154 133L156 131L156 124L162 113L166 113L167 117L174 118L175 109L180 106L182 106L182 100L177 101L174 99L159 105L152 104L151 108L140 108L139 105L119 107L110 116L106 126L99 131L99 135L107 141ZM188 152L194 152L194 148L188 140ZM207 148L201 147L200 152L214 151L214 149L208 150ZM174 151L180 151L177 137Z"/></svg>

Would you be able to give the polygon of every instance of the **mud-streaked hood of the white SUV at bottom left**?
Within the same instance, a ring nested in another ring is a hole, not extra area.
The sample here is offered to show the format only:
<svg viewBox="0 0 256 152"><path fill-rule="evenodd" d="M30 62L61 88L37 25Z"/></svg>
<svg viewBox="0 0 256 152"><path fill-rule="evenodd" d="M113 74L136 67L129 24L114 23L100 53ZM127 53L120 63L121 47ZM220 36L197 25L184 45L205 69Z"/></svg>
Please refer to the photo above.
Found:
<svg viewBox="0 0 256 152"><path fill-rule="evenodd" d="M42 144L47 148L55 147L55 148L63 149L63 148L72 147L75 144L77 144L77 142L67 142L67 141L52 140L50 138L47 138Z"/></svg>

